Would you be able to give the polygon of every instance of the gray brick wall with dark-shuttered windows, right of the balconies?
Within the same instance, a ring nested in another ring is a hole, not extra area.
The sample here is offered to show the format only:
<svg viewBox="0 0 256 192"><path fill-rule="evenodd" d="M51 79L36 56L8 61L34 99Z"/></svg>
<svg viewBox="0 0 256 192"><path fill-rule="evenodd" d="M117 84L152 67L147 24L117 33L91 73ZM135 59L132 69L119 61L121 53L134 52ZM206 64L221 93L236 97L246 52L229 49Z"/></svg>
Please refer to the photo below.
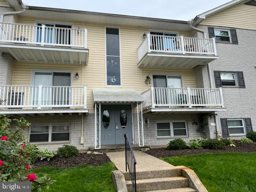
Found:
<svg viewBox="0 0 256 192"><path fill-rule="evenodd" d="M198 26L198 28L204 30L208 38L207 26ZM227 111L217 113L220 131L220 118L251 118L252 127L256 130L256 31L236 29L236 33L238 45L216 43L217 54L220 58L210 63L214 87L214 70L243 71L246 85L246 88L222 88L224 106ZM207 73L203 74L205 75L204 81L209 79Z"/></svg>

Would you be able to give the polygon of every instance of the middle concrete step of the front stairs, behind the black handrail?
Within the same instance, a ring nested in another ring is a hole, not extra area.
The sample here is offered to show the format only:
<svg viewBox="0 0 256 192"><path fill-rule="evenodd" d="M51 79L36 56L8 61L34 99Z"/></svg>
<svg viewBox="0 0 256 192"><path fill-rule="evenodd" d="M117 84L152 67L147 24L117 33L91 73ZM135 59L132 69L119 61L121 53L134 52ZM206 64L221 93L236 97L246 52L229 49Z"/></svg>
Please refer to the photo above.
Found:
<svg viewBox="0 0 256 192"><path fill-rule="evenodd" d="M128 192L132 192L132 182L126 181ZM166 177L136 180L137 192L165 190L188 187L188 179L184 177Z"/></svg>

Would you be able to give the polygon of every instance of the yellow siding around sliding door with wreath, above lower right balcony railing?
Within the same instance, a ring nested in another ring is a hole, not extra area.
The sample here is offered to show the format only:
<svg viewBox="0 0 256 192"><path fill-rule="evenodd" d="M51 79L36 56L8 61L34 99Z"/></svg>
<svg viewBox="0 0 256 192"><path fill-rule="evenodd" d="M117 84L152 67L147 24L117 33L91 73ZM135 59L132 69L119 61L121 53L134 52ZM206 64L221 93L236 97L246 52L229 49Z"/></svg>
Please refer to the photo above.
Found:
<svg viewBox="0 0 256 192"><path fill-rule="evenodd" d="M151 84L148 84L148 85L145 84L144 80L146 80L147 76L150 76L150 78L152 78L152 74L181 75L184 88L186 88L186 87L196 88L194 68L193 69L143 68L143 83L144 83L143 91L150 89L153 79L151 79Z"/></svg>

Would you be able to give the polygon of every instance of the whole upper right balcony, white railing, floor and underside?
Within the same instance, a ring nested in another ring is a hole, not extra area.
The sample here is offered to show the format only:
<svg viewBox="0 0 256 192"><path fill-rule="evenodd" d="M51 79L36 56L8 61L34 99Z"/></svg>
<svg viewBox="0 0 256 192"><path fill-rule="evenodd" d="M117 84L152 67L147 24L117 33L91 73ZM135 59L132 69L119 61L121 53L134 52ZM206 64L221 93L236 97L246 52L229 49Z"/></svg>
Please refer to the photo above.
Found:
<svg viewBox="0 0 256 192"><path fill-rule="evenodd" d="M193 68L218 58L214 38L147 34L137 49L138 67Z"/></svg>

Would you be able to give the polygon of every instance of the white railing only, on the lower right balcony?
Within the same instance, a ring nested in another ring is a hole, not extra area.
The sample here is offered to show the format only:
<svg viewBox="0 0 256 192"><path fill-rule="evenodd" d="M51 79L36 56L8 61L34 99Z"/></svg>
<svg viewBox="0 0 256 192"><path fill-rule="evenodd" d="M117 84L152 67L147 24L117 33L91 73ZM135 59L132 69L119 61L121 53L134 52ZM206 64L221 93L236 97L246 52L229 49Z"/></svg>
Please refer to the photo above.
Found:
<svg viewBox="0 0 256 192"><path fill-rule="evenodd" d="M149 107L224 107L222 88L154 88L142 93L143 108Z"/></svg>

